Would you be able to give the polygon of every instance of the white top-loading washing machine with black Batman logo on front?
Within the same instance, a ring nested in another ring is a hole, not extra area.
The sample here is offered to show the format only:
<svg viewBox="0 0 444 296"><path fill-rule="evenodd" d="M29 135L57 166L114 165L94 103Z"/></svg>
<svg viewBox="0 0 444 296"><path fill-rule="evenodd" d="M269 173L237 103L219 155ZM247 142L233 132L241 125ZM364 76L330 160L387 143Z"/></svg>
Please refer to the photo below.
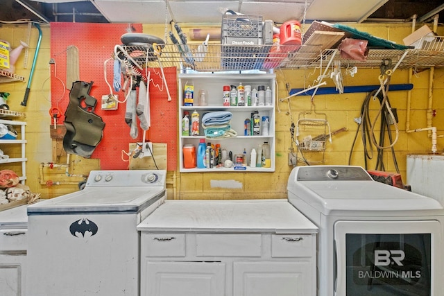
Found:
<svg viewBox="0 0 444 296"><path fill-rule="evenodd" d="M137 224L167 171L92 171L85 189L28 206L29 296L139 295Z"/></svg>

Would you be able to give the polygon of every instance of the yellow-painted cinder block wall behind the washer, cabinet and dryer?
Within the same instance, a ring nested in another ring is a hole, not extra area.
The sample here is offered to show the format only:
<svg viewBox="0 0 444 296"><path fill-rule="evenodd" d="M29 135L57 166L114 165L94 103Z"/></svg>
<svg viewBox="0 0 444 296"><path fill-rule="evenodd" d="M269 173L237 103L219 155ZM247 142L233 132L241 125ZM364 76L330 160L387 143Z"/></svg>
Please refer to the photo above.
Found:
<svg viewBox="0 0 444 296"><path fill-rule="evenodd" d="M402 44L402 38L411 33L411 24L348 24L361 31L368 32L377 37L392 40ZM430 24L429 24L430 25ZM192 26L192 25L189 25ZM50 102L50 29L49 25L42 25L42 44L37 59L37 65L31 84L31 92L28 105L20 105L24 97L26 82L0 83L0 92L10 92L8 105L11 110L26 112L28 125L26 127L27 180L26 184L31 191L42 193L43 198L51 198L78 190L76 186L44 186L40 184L40 164L52 162L52 143L49 136ZM419 27L419 26L418 26ZM187 26L182 26L187 28ZM305 29L308 28L306 25ZM0 27L0 39L8 40L12 48L19 44L19 40L26 40L28 26L3 25ZM163 36L164 25L144 26L144 33ZM443 35L443 27L438 27L438 35ZM17 61L17 73L28 81L29 72L37 44L37 29L32 28L31 48L28 54L28 67L23 69L24 54ZM321 74L321 69L285 69L276 70L278 82L278 98L288 96L287 87L302 88L316 84L316 78ZM343 76L345 86L352 85L378 85L379 69L359 69L354 77ZM413 90L411 92L410 128L425 128L427 126L427 107L429 99L429 73L430 70L418 71L413 75ZM434 70L432 110L436 110L432 118L432 124L438 128L438 134L444 134L444 69ZM327 86L333 87L332 80L325 79ZM391 83L408 83L409 70L398 69L393 73ZM348 164L352 141L355 137L358 125L354 119L359 117L361 104L366 94L335 94L317 95L311 101L309 96L297 96L287 101L277 101L276 108L276 169L274 173L178 173L177 194L178 199L253 199L253 198L286 198L287 180L292 166L288 165L288 153L291 148L291 135L289 128L291 122L296 123L300 112L316 110L324 113L332 130L347 128L346 132L340 132L332 137L332 143L327 143L325 150L325 164ZM427 132L407 133L407 92L389 92L388 97L392 107L398 110L399 139L395 144L395 155L402 178L405 182L406 155L429 153L431 139ZM370 106L370 114L376 114L379 102L373 102ZM21 120L21 119L17 119ZM379 125L379 123L378 123ZM394 129L393 129L394 130ZM379 132L379 127L376 128ZM394 133L393 133L394 134ZM294 147L294 146L293 146ZM438 153L442 153L444 140L438 138ZM180 151L180 149L178 149ZM364 166L364 147L358 139L351 157L351 164ZM376 153L376 152L375 152ZM391 160L391 153L384 153L386 171L395 171ZM375 159L368 161L368 168L375 167ZM169 195L171 196L171 195Z"/></svg>

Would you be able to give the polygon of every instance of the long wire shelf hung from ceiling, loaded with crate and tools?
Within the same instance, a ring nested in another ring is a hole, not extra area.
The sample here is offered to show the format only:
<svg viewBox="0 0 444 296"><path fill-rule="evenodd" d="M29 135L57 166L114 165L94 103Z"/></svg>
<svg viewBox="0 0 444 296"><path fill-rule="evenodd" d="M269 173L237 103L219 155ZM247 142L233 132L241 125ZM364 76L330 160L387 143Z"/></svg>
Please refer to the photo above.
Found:
<svg viewBox="0 0 444 296"><path fill-rule="evenodd" d="M157 44L121 46L139 67L177 67L195 71L244 71L268 69L307 69L323 67L330 60L338 60L341 67L379 68L384 60L398 64L398 69L411 67L444 67L443 37L425 42L421 49L370 49L365 61L341 58L338 49L324 49L322 45L294 46L223 45L223 44ZM276 50L278 49L278 50Z"/></svg>

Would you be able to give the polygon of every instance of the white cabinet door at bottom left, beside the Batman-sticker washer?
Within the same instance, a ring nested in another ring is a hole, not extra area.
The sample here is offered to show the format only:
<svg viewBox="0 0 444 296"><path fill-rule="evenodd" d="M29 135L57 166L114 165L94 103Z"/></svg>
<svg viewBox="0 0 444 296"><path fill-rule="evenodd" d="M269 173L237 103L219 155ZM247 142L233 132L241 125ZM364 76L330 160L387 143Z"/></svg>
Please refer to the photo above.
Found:
<svg viewBox="0 0 444 296"><path fill-rule="evenodd" d="M25 295L26 255L0 254L0 295L20 296Z"/></svg>

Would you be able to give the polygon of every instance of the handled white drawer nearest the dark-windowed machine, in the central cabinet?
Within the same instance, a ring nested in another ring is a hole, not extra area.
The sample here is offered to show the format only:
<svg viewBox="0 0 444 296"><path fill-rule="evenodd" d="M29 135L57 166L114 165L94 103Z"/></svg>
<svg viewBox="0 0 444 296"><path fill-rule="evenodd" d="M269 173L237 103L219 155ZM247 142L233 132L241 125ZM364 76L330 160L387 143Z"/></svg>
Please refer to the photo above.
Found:
<svg viewBox="0 0 444 296"><path fill-rule="evenodd" d="M309 234L274 234L271 237L272 257L311 257L316 244Z"/></svg>

